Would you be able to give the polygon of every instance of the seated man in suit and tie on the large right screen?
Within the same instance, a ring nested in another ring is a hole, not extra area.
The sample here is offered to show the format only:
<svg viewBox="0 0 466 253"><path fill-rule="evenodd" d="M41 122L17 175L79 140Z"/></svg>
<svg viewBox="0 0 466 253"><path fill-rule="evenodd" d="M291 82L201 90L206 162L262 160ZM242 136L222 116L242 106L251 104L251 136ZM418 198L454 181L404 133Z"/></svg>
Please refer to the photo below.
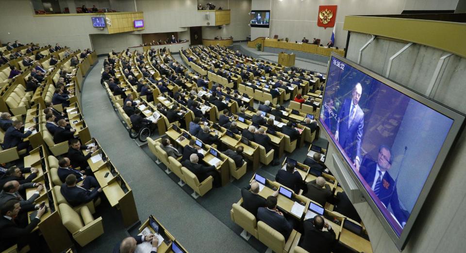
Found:
<svg viewBox="0 0 466 253"><path fill-rule="evenodd" d="M379 198L385 207L390 204L393 215L403 227L406 223L404 212L399 206L396 182L387 173L392 166L392 152L385 145L379 147L377 163L371 159L365 159L359 173L366 180L366 183L374 191L374 194Z"/></svg>

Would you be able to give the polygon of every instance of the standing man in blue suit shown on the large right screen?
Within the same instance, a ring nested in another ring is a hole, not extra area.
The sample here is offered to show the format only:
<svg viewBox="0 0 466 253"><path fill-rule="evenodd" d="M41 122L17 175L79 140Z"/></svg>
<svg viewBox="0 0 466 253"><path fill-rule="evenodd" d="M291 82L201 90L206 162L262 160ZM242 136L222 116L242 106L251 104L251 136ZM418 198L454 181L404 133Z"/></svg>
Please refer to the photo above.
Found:
<svg viewBox="0 0 466 253"><path fill-rule="evenodd" d="M336 123L335 139L353 161L353 165L359 170L361 163L361 138L363 137L364 112L358 105L363 87L360 83L354 85L351 99L346 99L340 108Z"/></svg>

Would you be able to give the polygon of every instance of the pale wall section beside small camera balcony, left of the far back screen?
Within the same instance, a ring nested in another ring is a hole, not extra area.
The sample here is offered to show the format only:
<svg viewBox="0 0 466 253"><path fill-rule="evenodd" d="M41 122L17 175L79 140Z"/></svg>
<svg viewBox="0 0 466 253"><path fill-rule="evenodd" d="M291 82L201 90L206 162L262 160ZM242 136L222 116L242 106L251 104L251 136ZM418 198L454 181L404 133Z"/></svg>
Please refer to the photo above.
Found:
<svg viewBox="0 0 466 253"><path fill-rule="evenodd" d="M213 39L215 36L233 36L233 40L246 40L246 37L250 35L249 12L251 11L251 0L223 0L212 1L212 3L216 5L217 9L219 6L223 6L224 9L230 8L231 21L230 24L222 25L221 29L216 26L203 26L202 37Z"/></svg>

